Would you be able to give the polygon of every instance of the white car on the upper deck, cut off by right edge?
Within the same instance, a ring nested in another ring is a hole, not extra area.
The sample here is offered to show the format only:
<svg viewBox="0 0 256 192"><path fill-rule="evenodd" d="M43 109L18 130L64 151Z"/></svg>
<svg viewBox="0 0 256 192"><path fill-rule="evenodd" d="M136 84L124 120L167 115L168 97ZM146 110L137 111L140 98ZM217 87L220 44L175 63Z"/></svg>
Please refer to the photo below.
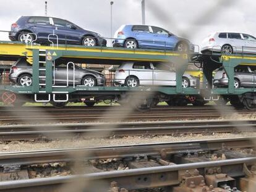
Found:
<svg viewBox="0 0 256 192"><path fill-rule="evenodd" d="M202 42L202 53L256 53L256 38L245 33L211 33Z"/></svg>

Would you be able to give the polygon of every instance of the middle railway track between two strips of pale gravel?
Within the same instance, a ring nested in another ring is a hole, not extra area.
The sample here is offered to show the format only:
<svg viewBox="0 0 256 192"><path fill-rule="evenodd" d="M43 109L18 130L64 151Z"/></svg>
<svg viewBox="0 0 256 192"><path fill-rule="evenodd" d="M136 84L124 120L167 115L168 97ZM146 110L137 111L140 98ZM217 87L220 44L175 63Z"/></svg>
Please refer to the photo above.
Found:
<svg viewBox="0 0 256 192"><path fill-rule="evenodd" d="M133 123L58 123L48 125L2 125L1 141L53 140L67 138L108 138L109 136L181 135L239 133L255 131L256 120L133 122Z"/></svg>

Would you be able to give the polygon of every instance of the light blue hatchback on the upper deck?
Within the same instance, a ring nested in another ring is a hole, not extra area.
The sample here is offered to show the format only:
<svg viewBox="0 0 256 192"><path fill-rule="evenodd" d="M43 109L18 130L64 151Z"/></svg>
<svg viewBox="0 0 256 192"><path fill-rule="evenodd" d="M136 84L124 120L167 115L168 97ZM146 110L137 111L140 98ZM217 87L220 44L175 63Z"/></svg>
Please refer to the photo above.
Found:
<svg viewBox="0 0 256 192"><path fill-rule="evenodd" d="M114 47L129 49L168 49L194 52L194 46L160 27L148 25L122 25L114 34Z"/></svg>

